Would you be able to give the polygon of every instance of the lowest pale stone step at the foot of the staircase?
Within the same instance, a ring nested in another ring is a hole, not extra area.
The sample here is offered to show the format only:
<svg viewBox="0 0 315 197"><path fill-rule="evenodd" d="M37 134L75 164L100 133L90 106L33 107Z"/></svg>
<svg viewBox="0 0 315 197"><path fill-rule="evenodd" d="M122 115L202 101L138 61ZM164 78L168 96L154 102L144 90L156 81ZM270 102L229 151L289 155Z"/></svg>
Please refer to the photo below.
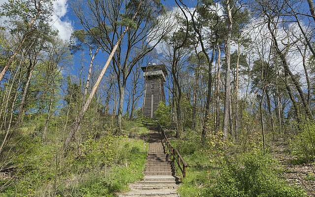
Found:
<svg viewBox="0 0 315 197"><path fill-rule="evenodd" d="M178 197L176 190L134 190L118 197Z"/></svg>

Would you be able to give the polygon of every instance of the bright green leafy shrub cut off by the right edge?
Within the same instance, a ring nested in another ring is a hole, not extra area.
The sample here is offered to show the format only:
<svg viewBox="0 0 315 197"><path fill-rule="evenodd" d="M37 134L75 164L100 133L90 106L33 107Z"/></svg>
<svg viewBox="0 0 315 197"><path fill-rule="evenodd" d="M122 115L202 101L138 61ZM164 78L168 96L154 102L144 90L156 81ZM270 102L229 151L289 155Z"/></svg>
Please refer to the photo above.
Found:
<svg viewBox="0 0 315 197"><path fill-rule="evenodd" d="M290 143L292 154L297 158L294 163L311 163L315 161L315 122L300 125L301 132Z"/></svg>

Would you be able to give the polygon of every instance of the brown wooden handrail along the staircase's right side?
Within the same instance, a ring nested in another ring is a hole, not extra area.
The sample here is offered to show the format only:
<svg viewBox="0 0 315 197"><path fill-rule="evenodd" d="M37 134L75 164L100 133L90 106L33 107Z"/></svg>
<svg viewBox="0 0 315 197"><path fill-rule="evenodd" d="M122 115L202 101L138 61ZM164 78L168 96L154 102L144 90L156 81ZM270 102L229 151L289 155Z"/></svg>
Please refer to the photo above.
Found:
<svg viewBox="0 0 315 197"><path fill-rule="evenodd" d="M172 158L173 163L176 160L176 163L177 163L178 167L180 168L180 170L181 170L181 172L183 174L183 178L185 178L185 176L186 176L186 168L188 167L188 164L182 158L181 154L179 154L178 150L173 148L173 146L169 142L168 138L166 137L166 134L165 134L163 128L160 126L160 124L158 124L158 133L160 133L160 132L162 134L162 137L164 137L165 146L168 148L170 154L173 157Z"/></svg>

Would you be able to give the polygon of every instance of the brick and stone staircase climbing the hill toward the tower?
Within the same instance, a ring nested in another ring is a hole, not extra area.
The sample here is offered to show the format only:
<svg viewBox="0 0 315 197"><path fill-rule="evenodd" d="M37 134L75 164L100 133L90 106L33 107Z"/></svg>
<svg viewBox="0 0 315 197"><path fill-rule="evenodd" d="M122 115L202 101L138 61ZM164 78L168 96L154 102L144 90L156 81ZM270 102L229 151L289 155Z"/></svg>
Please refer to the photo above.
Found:
<svg viewBox="0 0 315 197"><path fill-rule="evenodd" d="M131 191L119 197L179 197L176 192L178 178L173 166L164 153L160 134L156 130L150 130L144 180L130 184Z"/></svg>

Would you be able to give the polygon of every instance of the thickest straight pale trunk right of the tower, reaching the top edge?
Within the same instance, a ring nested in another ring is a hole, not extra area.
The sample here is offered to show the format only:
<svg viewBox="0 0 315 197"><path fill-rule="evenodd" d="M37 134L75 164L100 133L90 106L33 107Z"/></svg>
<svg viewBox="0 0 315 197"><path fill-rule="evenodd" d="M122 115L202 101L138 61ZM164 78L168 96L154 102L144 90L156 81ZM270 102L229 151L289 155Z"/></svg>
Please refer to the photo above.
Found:
<svg viewBox="0 0 315 197"><path fill-rule="evenodd" d="M224 97L224 115L223 115L223 139L227 138L229 127L229 106L230 106L230 67L231 67L231 33L232 33L232 12L230 8L230 0L227 0L228 30L226 39L226 69L225 69L225 97Z"/></svg>

